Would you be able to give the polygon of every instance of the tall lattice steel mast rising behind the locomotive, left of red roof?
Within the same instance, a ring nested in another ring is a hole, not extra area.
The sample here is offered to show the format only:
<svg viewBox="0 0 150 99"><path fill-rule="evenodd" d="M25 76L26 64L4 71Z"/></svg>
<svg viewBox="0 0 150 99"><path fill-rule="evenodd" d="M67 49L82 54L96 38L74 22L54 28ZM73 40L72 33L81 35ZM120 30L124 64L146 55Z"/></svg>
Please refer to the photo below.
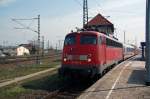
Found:
<svg viewBox="0 0 150 99"><path fill-rule="evenodd" d="M88 25L88 1L83 0L83 28Z"/></svg>

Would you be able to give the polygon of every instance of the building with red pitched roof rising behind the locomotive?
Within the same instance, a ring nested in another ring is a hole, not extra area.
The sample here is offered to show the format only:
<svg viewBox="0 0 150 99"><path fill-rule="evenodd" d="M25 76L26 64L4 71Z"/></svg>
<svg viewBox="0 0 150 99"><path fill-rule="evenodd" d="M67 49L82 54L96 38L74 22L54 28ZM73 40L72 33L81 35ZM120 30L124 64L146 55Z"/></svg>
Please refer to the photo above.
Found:
<svg viewBox="0 0 150 99"><path fill-rule="evenodd" d="M114 25L101 14L98 14L92 20L90 20L85 28L96 30L107 35L114 34Z"/></svg>

